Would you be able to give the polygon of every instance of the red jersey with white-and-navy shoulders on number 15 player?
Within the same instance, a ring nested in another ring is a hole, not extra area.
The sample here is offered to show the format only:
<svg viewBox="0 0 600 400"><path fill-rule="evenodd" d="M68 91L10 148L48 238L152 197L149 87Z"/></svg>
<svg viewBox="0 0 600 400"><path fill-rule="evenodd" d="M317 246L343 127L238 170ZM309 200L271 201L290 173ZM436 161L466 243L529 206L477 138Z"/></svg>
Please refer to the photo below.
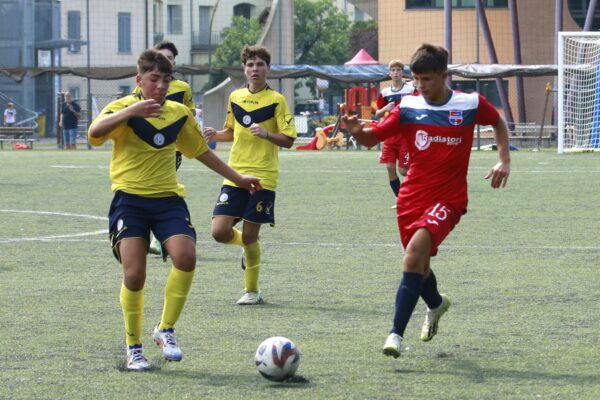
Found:
<svg viewBox="0 0 600 400"><path fill-rule="evenodd" d="M373 125L380 140L403 135L410 154L408 175L398 195L398 211L425 210L438 202L467 211L467 170L478 125L496 125L498 111L478 93L452 92L443 105L406 96L383 121Z"/></svg>

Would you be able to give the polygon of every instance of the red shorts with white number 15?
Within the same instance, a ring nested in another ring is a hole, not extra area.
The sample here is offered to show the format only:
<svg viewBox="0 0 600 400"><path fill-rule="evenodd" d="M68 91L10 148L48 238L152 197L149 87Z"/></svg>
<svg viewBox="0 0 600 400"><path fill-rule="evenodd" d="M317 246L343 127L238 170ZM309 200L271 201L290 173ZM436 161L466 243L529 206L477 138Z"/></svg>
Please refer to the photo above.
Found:
<svg viewBox="0 0 600 400"><path fill-rule="evenodd" d="M431 253L437 254L438 247L460 221L462 213L444 203L436 203L423 213L398 215L398 228L402 247L406 248L417 229L425 228L431 233Z"/></svg>

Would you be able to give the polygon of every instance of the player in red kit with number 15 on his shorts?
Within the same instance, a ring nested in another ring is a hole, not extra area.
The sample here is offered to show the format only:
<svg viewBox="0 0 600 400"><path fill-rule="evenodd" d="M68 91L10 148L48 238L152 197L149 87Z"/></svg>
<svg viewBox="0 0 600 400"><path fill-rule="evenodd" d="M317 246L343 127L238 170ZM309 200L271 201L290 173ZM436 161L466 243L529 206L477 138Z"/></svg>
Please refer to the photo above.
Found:
<svg viewBox="0 0 600 400"><path fill-rule="evenodd" d="M406 96L400 106L372 128L345 116L350 134L365 146L401 134L407 139L410 168L398 195L398 227L404 247L403 277L396 294L394 325L383 353L400 356L402 335L419 297L427 304L421 340L437 333L438 321L450 301L437 289L430 267L438 246L467 212L467 170L473 128L492 125L498 163L485 176L492 188L506 185L510 151L506 122L478 93L453 92L447 86L448 52L423 44L412 57L418 96Z"/></svg>

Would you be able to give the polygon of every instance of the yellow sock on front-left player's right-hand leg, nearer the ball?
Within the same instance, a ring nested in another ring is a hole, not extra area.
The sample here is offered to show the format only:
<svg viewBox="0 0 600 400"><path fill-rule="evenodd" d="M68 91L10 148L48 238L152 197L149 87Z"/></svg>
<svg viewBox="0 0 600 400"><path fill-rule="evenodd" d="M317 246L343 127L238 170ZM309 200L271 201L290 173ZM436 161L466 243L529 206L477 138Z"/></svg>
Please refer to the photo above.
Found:
<svg viewBox="0 0 600 400"><path fill-rule="evenodd" d="M174 265L171 267L165 285L165 305L158 329L169 329L175 325L192 287L193 278L194 271L182 271Z"/></svg>

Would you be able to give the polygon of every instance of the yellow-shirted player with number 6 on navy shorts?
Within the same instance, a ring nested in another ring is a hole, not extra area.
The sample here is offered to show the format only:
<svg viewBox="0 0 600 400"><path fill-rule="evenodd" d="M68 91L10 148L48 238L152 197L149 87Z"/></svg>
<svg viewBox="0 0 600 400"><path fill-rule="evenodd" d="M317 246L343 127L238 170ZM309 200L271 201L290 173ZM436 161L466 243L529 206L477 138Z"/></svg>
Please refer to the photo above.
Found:
<svg viewBox="0 0 600 400"><path fill-rule="evenodd" d="M275 189L279 177L279 147L290 148L296 138L294 117L285 98L267 85L271 55L262 46L246 46L242 65L248 84L229 96L227 119L220 131L204 129L209 143L233 141L229 165L261 178L264 190L250 193L225 179L213 210L216 241L243 247L244 294L237 304L262 304L259 290L262 224L275 224ZM235 224L243 220L242 231Z"/></svg>

